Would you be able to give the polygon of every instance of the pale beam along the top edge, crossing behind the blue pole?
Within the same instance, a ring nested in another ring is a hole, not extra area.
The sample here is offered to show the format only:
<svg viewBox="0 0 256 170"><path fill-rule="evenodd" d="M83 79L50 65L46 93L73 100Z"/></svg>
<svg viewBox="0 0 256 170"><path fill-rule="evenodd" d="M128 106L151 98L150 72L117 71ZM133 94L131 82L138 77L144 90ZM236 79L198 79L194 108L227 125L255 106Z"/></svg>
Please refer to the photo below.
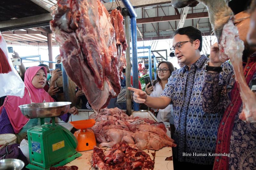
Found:
<svg viewBox="0 0 256 170"><path fill-rule="evenodd" d="M121 5L121 8L124 8L124 4L121 1L118 1ZM170 0L147 0L147 1L138 1L138 0L130 0L133 8L140 8L140 7L146 7L146 6L153 6L153 5L161 5L161 4L171 4ZM115 2L109 2L103 4L106 9L113 10L116 9L117 5Z"/></svg>

